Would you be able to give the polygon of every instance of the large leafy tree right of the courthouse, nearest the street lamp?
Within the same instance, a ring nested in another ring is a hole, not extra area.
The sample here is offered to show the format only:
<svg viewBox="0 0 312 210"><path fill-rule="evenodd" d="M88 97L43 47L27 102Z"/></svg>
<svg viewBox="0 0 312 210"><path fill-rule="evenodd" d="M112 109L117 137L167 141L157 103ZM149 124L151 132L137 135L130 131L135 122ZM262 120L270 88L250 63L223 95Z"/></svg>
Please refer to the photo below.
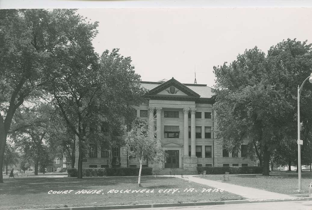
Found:
<svg viewBox="0 0 312 210"><path fill-rule="evenodd" d="M280 142L295 139L289 131L296 127L296 87L312 67L310 47L288 39L271 47L267 57L255 47L230 65L214 67L216 136L229 149L239 149L248 135L263 160L263 175L269 175L270 156Z"/></svg>

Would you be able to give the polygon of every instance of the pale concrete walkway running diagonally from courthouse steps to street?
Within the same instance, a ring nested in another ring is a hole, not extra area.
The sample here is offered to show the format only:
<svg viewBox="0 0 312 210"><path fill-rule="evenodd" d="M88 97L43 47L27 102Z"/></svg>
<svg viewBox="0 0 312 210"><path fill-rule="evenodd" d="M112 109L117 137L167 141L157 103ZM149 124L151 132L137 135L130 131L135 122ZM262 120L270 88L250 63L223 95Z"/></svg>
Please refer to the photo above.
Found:
<svg viewBox="0 0 312 210"><path fill-rule="evenodd" d="M214 188L221 188L224 189L227 192L234 193L237 195L241 195L248 199L286 199L286 198L295 198L290 195L280 194L280 193L274 193L262 189L255 189L251 187L243 187L235 184L228 184L225 182L218 182L218 181L212 181L207 179L201 179L198 177L194 177L197 175L184 175L185 177L188 177L190 181L196 182L199 184L208 185L210 187ZM178 178L181 178L180 176L176 176Z"/></svg>

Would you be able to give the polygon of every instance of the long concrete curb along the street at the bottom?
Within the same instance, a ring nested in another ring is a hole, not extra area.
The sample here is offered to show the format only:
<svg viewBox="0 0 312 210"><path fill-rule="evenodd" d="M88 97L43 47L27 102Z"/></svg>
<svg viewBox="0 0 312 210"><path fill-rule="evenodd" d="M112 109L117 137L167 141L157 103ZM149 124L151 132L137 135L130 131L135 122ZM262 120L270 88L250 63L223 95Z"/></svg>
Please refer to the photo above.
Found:
<svg viewBox="0 0 312 210"><path fill-rule="evenodd" d="M185 207L185 206L209 206L241 203L266 203L283 201L312 201L312 197L304 198L280 198L280 199L249 199L249 200L228 200L210 201L197 203L158 203L158 204L138 204L138 205L118 205L118 206L86 206L86 207L66 207L66 208L40 208L37 210L109 210L109 209L131 209L131 208L161 208L161 207ZM33 209L24 209L33 210Z"/></svg>

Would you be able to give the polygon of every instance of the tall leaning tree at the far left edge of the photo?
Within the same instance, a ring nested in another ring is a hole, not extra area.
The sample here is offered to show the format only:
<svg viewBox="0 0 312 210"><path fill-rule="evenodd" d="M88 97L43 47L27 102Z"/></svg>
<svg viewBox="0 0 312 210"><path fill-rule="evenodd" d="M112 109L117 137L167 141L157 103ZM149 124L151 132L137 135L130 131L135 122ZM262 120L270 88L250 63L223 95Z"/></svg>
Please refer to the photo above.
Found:
<svg viewBox="0 0 312 210"><path fill-rule="evenodd" d="M0 12L0 168L16 110L24 101L43 97L46 83L60 76L56 69L73 62L72 54L66 54L73 52L71 43L87 47L97 33L97 23L86 23L75 13L65 9Z"/></svg>

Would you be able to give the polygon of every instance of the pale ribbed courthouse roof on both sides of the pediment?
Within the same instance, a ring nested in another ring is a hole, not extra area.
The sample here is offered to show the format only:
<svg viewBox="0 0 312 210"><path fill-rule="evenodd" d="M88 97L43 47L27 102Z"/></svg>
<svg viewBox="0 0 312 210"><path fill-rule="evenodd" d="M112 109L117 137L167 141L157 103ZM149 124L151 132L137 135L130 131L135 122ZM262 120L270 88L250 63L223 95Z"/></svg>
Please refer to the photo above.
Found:
<svg viewBox="0 0 312 210"><path fill-rule="evenodd" d="M147 90L152 90L158 85L163 84L163 82L141 82L141 87L144 87ZM207 85L201 84L183 84L187 86L192 91L196 92L200 95L200 98L211 98L213 96L212 88L208 87Z"/></svg>

